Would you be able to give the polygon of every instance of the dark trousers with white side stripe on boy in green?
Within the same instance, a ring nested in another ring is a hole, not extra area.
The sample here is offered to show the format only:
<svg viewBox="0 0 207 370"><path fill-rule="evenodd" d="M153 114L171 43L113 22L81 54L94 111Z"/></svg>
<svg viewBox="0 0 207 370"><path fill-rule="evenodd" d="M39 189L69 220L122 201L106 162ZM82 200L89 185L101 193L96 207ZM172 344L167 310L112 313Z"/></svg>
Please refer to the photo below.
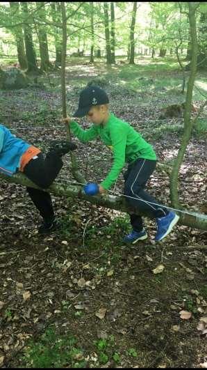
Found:
<svg viewBox="0 0 207 370"><path fill-rule="evenodd" d="M149 176L156 168L156 160L144 160L142 158L129 165L124 174L124 194L131 196L126 197L126 201L134 208L139 208L150 217L163 217L169 213L167 208L163 208L159 203L147 192L144 192L144 187L149 179ZM151 204L151 203L155 204ZM143 229L142 217L131 214L131 226L135 231Z"/></svg>

